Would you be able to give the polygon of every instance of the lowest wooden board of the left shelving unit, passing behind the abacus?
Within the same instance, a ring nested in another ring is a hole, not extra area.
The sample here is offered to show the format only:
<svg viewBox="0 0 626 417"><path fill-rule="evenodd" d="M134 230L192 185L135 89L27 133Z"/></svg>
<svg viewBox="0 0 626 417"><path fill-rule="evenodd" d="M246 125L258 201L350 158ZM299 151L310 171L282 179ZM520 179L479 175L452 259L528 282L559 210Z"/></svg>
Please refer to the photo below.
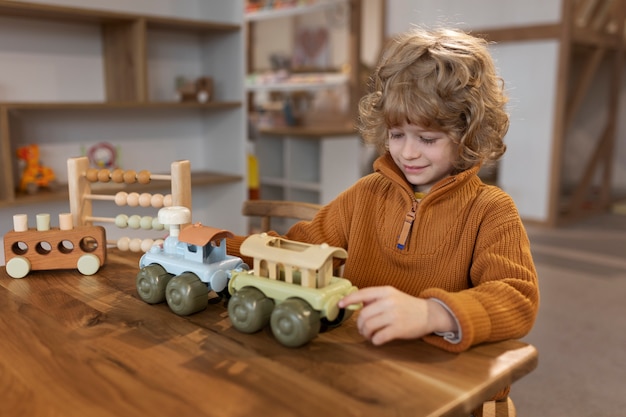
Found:
<svg viewBox="0 0 626 417"><path fill-rule="evenodd" d="M192 186L211 186L219 184L229 184L243 181L240 175L221 174L211 171L198 171L191 174ZM98 194L115 194L119 191L126 192L149 192L166 189L167 185L163 182L155 182L152 184L108 184L107 186L94 190ZM35 194L17 193L12 201L0 201L0 208L18 207L22 205L45 204L54 201L68 201L69 194L67 184L59 184L57 190L41 189Z"/></svg>

